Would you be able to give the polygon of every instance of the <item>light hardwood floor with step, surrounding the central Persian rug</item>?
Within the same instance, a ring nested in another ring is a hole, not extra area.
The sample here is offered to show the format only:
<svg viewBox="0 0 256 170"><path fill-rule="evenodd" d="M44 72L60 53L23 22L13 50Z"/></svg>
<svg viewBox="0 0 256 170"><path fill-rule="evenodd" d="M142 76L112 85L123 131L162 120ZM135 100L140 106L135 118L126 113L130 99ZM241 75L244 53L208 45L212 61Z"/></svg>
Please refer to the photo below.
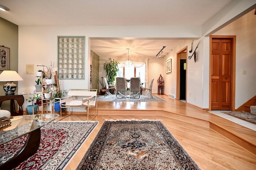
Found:
<svg viewBox="0 0 256 170"><path fill-rule="evenodd" d="M202 170L256 169L255 131L166 95L159 96L167 102L98 102L98 115L93 120L99 124L66 170L76 169L105 119L161 119ZM87 116L73 113L63 119L79 120L85 121Z"/></svg>

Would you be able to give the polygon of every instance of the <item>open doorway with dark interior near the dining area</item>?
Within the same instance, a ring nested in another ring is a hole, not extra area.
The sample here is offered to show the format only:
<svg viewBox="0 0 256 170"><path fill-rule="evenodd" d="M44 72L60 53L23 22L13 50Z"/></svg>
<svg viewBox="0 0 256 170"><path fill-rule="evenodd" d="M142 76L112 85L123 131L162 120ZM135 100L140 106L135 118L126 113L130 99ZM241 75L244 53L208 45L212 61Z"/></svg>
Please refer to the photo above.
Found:
<svg viewBox="0 0 256 170"><path fill-rule="evenodd" d="M186 59L187 49L184 47L177 53L177 80L176 80L176 100L186 102L186 89L187 89L187 72L186 72Z"/></svg>

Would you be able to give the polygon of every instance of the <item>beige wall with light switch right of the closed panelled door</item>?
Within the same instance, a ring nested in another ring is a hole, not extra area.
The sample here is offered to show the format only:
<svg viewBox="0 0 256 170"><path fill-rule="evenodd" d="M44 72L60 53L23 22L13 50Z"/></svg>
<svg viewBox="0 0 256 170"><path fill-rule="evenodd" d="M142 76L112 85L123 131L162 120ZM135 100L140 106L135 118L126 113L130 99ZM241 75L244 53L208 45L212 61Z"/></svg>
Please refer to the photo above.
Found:
<svg viewBox="0 0 256 170"><path fill-rule="evenodd" d="M255 9L213 34L236 35L236 109L256 95L256 15L254 11ZM247 74L242 74L242 70L246 70Z"/></svg>

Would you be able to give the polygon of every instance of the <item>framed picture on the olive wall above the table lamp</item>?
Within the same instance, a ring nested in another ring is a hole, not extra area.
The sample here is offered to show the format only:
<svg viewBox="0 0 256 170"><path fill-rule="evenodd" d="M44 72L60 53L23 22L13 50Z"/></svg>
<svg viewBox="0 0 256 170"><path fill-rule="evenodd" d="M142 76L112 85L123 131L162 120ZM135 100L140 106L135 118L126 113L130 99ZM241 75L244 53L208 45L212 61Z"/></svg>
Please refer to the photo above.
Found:
<svg viewBox="0 0 256 170"><path fill-rule="evenodd" d="M10 49L0 46L0 70L10 70Z"/></svg>

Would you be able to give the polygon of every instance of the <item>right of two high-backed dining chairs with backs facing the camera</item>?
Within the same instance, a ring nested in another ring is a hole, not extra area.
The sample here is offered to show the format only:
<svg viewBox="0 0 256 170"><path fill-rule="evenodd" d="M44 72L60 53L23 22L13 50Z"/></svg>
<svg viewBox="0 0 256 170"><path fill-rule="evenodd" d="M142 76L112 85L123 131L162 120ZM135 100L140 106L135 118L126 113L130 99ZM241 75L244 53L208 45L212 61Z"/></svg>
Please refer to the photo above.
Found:
<svg viewBox="0 0 256 170"><path fill-rule="evenodd" d="M138 77L131 78L130 100L140 100L140 78Z"/></svg>

